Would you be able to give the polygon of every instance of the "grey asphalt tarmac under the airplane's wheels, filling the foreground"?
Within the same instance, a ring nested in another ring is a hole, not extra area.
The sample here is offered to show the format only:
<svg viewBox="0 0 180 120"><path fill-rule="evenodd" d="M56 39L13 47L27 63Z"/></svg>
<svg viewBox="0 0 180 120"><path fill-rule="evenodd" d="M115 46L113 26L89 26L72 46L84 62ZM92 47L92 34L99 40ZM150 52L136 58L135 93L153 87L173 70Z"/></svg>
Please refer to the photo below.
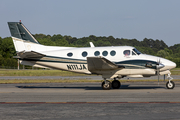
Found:
<svg viewBox="0 0 180 120"><path fill-rule="evenodd" d="M0 120L179 120L180 82L0 84Z"/></svg>

